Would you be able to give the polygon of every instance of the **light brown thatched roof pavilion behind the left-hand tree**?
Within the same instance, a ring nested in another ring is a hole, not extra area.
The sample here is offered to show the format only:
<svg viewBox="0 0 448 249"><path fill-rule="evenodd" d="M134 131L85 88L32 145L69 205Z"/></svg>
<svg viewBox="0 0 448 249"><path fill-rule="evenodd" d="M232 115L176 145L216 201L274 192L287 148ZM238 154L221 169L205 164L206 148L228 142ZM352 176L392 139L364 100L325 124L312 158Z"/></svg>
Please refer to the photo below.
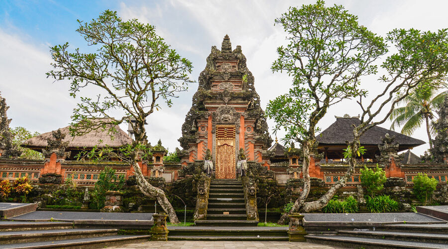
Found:
<svg viewBox="0 0 448 249"><path fill-rule="evenodd" d="M92 130L87 134L74 137L70 135L70 125L60 128L61 132L66 134L65 138L62 140L64 142L68 142L66 150L72 151L70 158L67 159L74 159L74 156L80 151L92 149L96 145L98 145L98 147L109 146L112 148L118 148L122 145L132 143L132 139L118 125L115 125L114 127L116 132L112 134L112 138L111 134L108 133L111 127L112 124L107 124L106 129L100 128L98 130ZM42 152L42 149L48 148L47 139L49 138L53 138L52 131L31 137L24 141L21 146Z"/></svg>

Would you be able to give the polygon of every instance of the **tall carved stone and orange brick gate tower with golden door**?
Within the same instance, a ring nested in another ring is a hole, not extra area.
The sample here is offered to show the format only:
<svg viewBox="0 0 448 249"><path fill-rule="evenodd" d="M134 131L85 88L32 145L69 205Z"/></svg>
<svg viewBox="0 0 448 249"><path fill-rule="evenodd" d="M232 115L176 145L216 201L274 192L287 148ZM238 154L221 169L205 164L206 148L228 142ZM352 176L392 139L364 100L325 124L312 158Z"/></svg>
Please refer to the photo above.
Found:
<svg viewBox="0 0 448 249"><path fill-rule="evenodd" d="M263 115L241 46L232 51L225 35L221 50L213 46L207 57L182 125L182 163L203 160L210 149L216 178L235 178L237 155L244 148L247 160L269 167L272 138Z"/></svg>

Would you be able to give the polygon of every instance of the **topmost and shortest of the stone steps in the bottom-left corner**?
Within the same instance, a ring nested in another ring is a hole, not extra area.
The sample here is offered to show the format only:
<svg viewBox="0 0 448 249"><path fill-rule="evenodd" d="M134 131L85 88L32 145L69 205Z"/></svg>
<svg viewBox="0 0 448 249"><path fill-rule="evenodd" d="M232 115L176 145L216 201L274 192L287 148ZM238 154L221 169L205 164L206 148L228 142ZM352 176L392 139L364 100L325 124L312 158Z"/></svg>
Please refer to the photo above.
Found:
<svg viewBox="0 0 448 249"><path fill-rule="evenodd" d="M71 222L0 222L0 232L72 229Z"/></svg>

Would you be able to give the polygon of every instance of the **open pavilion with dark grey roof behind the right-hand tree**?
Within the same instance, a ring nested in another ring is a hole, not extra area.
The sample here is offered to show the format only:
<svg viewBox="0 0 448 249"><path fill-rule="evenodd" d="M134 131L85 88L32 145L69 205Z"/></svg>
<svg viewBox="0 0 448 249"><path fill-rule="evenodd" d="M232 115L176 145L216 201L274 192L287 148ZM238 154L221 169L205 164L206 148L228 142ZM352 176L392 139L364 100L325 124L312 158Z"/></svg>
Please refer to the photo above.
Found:
<svg viewBox="0 0 448 249"><path fill-rule="evenodd" d="M343 149L347 147L345 141L350 141L353 138L352 124L357 125L360 123L361 121L357 117L336 117L335 123L316 136L316 140L319 142L319 150L326 152L327 157L330 159L343 158ZM375 155L379 154L378 144L382 143L381 138L386 133L389 133L390 136L395 136L395 141L400 144L398 151L412 149L425 143L420 139L403 135L390 129L373 126L359 138L361 146L367 149L364 158L374 159Z"/></svg>

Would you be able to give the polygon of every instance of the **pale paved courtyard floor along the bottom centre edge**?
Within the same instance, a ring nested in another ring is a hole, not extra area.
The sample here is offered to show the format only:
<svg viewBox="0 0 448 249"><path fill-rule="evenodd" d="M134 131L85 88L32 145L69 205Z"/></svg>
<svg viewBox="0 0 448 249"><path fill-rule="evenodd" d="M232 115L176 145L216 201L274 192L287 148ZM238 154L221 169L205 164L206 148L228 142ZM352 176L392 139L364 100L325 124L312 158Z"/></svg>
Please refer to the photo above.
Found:
<svg viewBox="0 0 448 249"><path fill-rule="evenodd" d="M168 242L145 242L138 244L127 244L117 247L108 247L108 249L341 249L325 245L287 242L287 241L168 241Z"/></svg>

